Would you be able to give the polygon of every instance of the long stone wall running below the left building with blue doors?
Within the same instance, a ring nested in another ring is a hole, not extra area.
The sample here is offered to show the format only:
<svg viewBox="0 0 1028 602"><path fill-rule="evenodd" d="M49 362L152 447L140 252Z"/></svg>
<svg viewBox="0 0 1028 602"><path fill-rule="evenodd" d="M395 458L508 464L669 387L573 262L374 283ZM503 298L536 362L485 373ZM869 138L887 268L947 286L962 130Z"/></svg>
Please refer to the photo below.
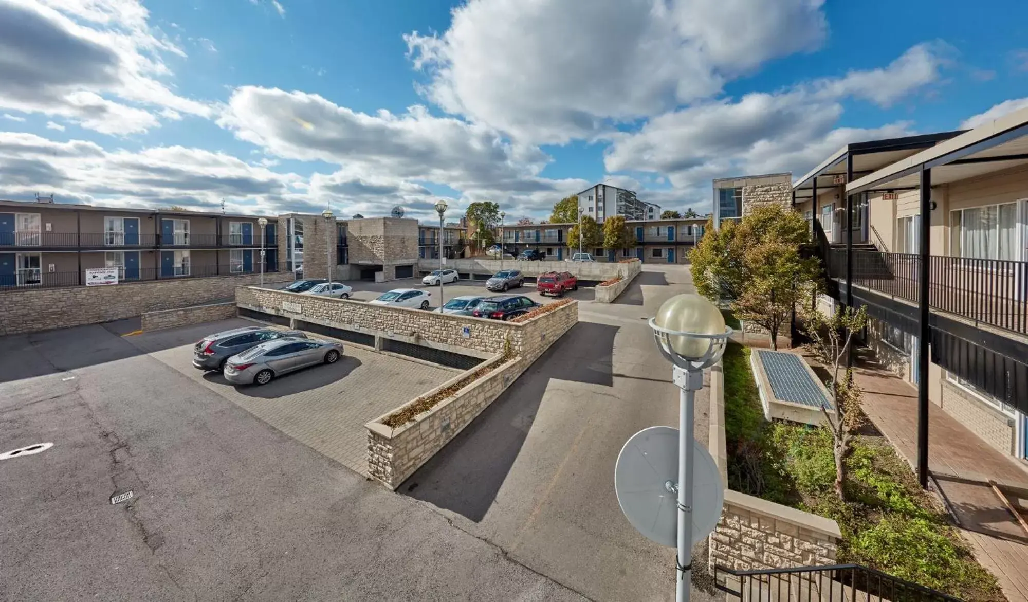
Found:
<svg viewBox="0 0 1028 602"><path fill-rule="evenodd" d="M289 273L264 274L265 283L293 279ZM240 285L255 285L260 274L124 283L109 287L34 289L0 293L0 335L31 333L134 317L230 298Z"/></svg>

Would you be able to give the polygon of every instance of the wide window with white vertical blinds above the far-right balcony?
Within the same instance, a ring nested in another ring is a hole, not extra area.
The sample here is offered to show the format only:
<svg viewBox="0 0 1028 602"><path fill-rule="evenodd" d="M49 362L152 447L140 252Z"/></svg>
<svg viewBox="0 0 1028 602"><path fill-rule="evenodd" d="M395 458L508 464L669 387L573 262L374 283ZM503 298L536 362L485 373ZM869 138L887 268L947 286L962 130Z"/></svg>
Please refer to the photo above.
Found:
<svg viewBox="0 0 1028 602"><path fill-rule="evenodd" d="M950 254L975 259L1020 260L1018 203L990 204L952 212Z"/></svg>

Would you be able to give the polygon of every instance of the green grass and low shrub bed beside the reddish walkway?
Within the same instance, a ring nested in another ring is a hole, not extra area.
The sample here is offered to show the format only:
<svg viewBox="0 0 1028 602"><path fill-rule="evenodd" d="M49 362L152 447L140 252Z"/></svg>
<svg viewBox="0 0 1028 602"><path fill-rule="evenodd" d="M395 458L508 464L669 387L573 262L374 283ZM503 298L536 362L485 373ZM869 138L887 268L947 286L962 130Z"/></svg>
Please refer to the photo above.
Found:
<svg viewBox="0 0 1028 602"><path fill-rule="evenodd" d="M847 460L843 503L833 490L832 435L766 422L749 349L725 352L729 486L839 523L839 562L862 564L964 600L1005 600L934 498L882 437L861 435Z"/></svg>

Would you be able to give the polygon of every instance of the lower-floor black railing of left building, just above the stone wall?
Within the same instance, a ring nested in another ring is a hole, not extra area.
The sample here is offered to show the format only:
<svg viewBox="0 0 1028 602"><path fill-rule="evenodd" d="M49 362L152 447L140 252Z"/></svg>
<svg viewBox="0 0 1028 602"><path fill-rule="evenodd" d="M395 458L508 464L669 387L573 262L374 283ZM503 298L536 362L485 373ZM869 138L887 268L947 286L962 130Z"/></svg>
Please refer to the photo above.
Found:
<svg viewBox="0 0 1028 602"><path fill-rule="evenodd" d="M277 269L265 269L264 273L276 273ZM180 278L205 278L214 276L234 276L259 274L260 264L245 266L241 264L224 265L177 265L162 267L127 267L118 269L118 284L152 281ZM32 289L61 289L68 287L83 287L86 283L86 272L77 271L49 272L29 268L15 270L13 274L0 274L0 292L27 291Z"/></svg>

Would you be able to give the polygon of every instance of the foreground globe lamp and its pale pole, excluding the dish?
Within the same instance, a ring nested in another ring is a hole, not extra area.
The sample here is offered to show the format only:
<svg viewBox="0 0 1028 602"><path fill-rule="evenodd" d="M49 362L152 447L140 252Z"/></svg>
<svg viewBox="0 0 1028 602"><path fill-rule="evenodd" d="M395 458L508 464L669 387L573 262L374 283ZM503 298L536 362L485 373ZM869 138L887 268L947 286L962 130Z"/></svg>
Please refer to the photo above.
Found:
<svg viewBox="0 0 1028 602"><path fill-rule="evenodd" d="M732 329L713 303L698 295L676 295L649 321L660 352L673 365L678 386L678 479L664 487L677 495L675 599L689 600L693 544L693 404L703 388L703 371L721 360ZM724 484L719 484L724 487ZM719 512L720 515L720 512Z"/></svg>

